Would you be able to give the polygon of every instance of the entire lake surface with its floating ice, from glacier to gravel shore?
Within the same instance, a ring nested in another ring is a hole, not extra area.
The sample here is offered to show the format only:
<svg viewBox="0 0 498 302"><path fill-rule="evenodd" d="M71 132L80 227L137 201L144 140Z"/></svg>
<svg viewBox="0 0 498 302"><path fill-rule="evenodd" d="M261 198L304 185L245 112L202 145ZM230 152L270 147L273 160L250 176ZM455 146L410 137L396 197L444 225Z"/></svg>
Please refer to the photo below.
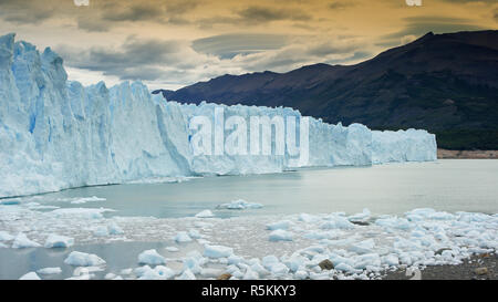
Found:
<svg viewBox="0 0 498 302"><path fill-rule="evenodd" d="M312 169L3 199L0 279L378 279L458 264L496 251L497 165ZM447 181L430 186L437 179Z"/></svg>

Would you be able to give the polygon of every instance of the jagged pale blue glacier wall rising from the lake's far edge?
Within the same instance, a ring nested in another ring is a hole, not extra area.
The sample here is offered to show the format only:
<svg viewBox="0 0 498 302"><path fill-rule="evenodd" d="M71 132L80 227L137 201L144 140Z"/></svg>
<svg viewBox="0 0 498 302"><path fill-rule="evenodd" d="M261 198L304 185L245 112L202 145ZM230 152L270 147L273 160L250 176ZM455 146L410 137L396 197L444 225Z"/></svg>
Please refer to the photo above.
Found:
<svg viewBox="0 0 498 302"><path fill-rule="evenodd" d="M279 173L290 156L194 156L189 119L295 116L287 107L179 104L141 82L108 88L68 81L63 60L15 34L0 37L0 198L65 188L203 175ZM307 167L369 166L437 159L426 131L376 132L310 118Z"/></svg>

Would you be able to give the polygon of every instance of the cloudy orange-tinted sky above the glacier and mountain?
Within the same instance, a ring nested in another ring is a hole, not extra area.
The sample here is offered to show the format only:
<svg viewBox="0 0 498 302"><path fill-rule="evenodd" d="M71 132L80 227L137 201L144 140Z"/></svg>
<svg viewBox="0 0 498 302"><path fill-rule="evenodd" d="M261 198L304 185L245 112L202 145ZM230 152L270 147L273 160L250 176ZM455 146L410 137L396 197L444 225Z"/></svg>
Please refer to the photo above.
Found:
<svg viewBox="0 0 498 302"><path fill-rule="evenodd" d="M429 31L496 30L498 0L0 0L0 29L51 46L84 85L176 90L224 74L355 64Z"/></svg>

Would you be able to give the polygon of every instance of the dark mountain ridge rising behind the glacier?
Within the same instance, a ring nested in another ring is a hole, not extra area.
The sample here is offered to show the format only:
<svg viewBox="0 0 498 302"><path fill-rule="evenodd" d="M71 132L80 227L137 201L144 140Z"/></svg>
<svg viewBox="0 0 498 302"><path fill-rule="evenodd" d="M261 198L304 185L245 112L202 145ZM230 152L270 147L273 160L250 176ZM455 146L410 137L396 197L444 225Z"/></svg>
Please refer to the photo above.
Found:
<svg viewBox="0 0 498 302"><path fill-rule="evenodd" d="M328 123L425 128L448 149L498 149L498 31L425 34L355 65L224 75L178 91L201 101L290 106Z"/></svg>

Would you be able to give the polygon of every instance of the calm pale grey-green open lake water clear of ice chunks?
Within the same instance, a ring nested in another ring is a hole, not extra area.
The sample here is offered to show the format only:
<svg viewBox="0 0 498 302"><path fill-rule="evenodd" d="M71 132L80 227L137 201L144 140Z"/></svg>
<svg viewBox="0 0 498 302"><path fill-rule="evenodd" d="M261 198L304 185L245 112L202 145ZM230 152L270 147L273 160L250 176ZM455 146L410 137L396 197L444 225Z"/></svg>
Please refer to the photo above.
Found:
<svg viewBox="0 0 498 302"><path fill-rule="evenodd" d="M438 160L436 163L392 164L373 167L302 169L283 174L206 177L172 184L133 184L85 187L0 202L31 202L56 207L105 207L106 214L121 217L180 218L210 209L217 217L292 215L300 212L347 215L369 208L375 215L402 215L415 208L449 212L498 212L498 160ZM72 205L71 198L105 198ZM217 205L243 199L263 205L253 210L219 210ZM7 222L8 223L8 222ZM76 242L77 243L77 242ZM73 268L63 264L72 250L96 253L107 261L106 272L136 267L137 254L155 248L165 257L174 242L112 242L76 244L70 249L0 248L0 279L20 275L45 267L61 267L66 278ZM181 247L181 254L195 247ZM116 257L118 256L118 257ZM133 263L131 265L129 263ZM102 278L104 272L97 273Z"/></svg>

